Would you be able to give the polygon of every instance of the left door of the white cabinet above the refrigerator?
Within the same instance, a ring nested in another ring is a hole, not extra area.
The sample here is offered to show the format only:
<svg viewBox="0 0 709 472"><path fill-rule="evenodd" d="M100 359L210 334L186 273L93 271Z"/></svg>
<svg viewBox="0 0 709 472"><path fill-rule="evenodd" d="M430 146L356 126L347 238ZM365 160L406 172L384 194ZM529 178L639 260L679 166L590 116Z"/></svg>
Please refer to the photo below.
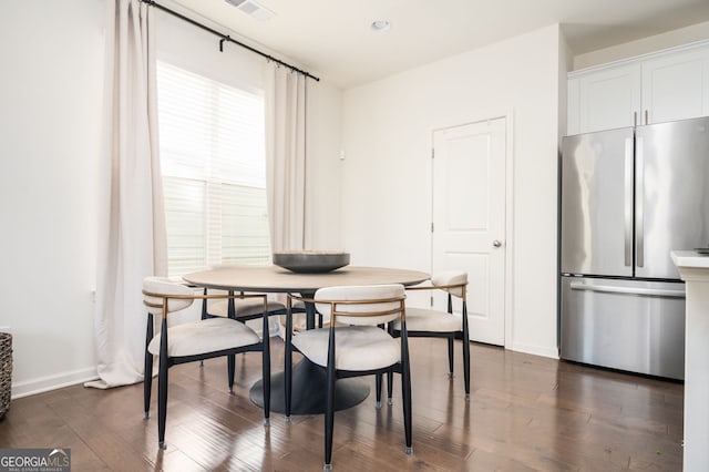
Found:
<svg viewBox="0 0 709 472"><path fill-rule="evenodd" d="M604 69L580 76L579 133L636 124L640 110L640 76L639 64Z"/></svg>

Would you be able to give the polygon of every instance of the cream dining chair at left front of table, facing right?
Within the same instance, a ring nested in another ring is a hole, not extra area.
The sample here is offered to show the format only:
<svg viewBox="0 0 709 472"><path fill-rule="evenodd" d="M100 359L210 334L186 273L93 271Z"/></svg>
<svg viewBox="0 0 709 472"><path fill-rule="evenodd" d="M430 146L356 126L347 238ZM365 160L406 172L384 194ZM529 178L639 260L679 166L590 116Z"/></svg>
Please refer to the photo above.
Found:
<svg viewBox="0 0 709 472"><path fill-rule="evenodd" d="M150 415L153 383L153 356L158 356L157 374L157 440L165 449L165 423L167 418L167 370L176 365L227 356L228 387L234 387L234 357L239 352L261 352L264 379L264 424L268 424L270 410L270 345L268 318L264 317L264 332L259 337L251 328L233 317L199 319L168 327L169 314L188 308L195 299L234 298L234 295L198 295L194 287L171 281L163 277L146 277L143 280L144 304L147 307L145 336L144 411ZM260 300L266 310L265 295L238 295L239 299ZM160 317L160 332L154 335L154 317Z"/></svg>

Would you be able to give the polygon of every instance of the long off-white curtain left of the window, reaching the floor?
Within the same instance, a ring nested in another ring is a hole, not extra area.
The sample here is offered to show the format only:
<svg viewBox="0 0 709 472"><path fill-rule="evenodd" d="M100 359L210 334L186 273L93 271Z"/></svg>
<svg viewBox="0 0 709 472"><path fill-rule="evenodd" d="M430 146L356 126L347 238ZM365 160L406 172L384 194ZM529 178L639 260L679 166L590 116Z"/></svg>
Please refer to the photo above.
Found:
<svg viewBox="0 0 709 472"><path fill-rule="evenodd" d="M100 380L110 388L143 380L146 311L143 278L167 274L158 160L151 9L106 2L104 147L94 312Z"/></svg>

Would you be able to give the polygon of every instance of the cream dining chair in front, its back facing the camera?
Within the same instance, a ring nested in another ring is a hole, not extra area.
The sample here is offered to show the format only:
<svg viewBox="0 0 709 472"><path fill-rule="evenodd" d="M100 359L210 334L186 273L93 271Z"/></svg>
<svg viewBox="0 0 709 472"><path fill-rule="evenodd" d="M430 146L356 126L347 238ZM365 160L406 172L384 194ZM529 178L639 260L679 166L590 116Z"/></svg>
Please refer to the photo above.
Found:
<svg viewBox="0 0 709 472"><path fill-rule="evenodd" d="M411 438L411 372L407 338L405 293L402 285L327 287L315 293L312 299L289 295L292 300L314 302L328 320L328 327L299 331L290 336L286 329L286 367L292 350L327 372L325 413L325 470L332 468L332 431L335 427L335 382L337 379L381 373L401 373L405 452L412 452ZM400 341L380 325L401 320ZM288 324L292 316L287 317ZM286 418L290 417L290 386L292 376L286 369Z"/></svg>

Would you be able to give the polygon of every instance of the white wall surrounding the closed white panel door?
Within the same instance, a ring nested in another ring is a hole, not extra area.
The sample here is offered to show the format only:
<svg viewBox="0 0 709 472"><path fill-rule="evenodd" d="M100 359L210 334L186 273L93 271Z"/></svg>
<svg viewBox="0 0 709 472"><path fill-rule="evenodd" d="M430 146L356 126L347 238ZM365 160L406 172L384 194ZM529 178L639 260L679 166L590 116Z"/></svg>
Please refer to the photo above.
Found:
<svg viewBox="0 0 709 472"><path fill-rule="evenodd" d="M508 348L557 356L559 28L345 93L342 232L361 265L430 270L434 129L507 116L513 153Z"/></svg>

